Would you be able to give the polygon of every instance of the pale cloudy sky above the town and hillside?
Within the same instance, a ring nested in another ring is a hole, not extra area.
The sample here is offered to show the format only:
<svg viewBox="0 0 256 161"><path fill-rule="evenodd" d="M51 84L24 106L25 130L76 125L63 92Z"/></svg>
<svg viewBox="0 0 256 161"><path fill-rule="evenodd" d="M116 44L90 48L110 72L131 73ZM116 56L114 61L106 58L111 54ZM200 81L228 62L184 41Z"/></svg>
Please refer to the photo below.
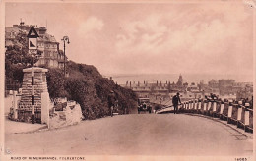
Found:
<svg viewBox="0 0 256 161"><path fill-rule="evenodd" d="M253 74L253 8L209 3L7 3L6 27L46 26L102 74ZM19 14L18 14L19 13Z"/></svg>

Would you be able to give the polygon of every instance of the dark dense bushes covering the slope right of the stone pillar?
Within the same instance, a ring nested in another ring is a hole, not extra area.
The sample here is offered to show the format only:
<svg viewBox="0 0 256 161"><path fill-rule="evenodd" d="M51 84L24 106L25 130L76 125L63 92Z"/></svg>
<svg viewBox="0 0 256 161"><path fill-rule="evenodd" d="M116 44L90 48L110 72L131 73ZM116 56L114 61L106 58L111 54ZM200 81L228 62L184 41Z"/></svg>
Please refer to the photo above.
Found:
<svg viewBox="0 0 256 161"><path fill-rule="evenodd" d="M115 92L119 113L129 113L136 108L135 93L103 78L94 66L70 61L67 63L67 69L69 77L64 77L60 69L49 69L47 83L50 97L67 97L77 101L86 119L109 115L107 96L110 90Z"/></svg>

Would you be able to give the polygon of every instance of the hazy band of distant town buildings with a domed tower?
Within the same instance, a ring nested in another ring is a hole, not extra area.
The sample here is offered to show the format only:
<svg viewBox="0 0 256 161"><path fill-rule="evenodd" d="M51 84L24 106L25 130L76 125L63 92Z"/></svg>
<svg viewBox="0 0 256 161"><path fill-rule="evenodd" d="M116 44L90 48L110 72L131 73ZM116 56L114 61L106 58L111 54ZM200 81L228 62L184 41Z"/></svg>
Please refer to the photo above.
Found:
<svg viewBox="0 0 256 161"><path fill-rule="evenodd" d="M161 81L151 82L144 81L127 81L123 87L130 88L137 93L139 97L172 97L177 92L181 93L183 99L204 98L210 93L216 94L224 98L251 98L253 93L253 83L235 82L235 80L210 80L204 83L203 80L196 84L192 82L188 84L183 82L183 78L179 75L177 82Z"/></svg>

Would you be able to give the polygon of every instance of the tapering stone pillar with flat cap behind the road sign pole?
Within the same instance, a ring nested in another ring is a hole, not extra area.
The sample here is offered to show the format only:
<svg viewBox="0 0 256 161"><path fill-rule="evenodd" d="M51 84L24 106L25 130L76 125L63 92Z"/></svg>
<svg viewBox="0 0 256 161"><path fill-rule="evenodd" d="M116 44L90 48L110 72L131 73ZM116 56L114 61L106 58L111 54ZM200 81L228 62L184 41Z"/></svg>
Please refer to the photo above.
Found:
<svg viewBox="0 0 256 161"><path fill-rule="evenodd" d="M41 118L41 93L48 93L47 69L33 67L34 70L34 111L36 120ZM32 68L23 69L22 97L18 107L18 119L30 122L32 118Z"/></svg>

